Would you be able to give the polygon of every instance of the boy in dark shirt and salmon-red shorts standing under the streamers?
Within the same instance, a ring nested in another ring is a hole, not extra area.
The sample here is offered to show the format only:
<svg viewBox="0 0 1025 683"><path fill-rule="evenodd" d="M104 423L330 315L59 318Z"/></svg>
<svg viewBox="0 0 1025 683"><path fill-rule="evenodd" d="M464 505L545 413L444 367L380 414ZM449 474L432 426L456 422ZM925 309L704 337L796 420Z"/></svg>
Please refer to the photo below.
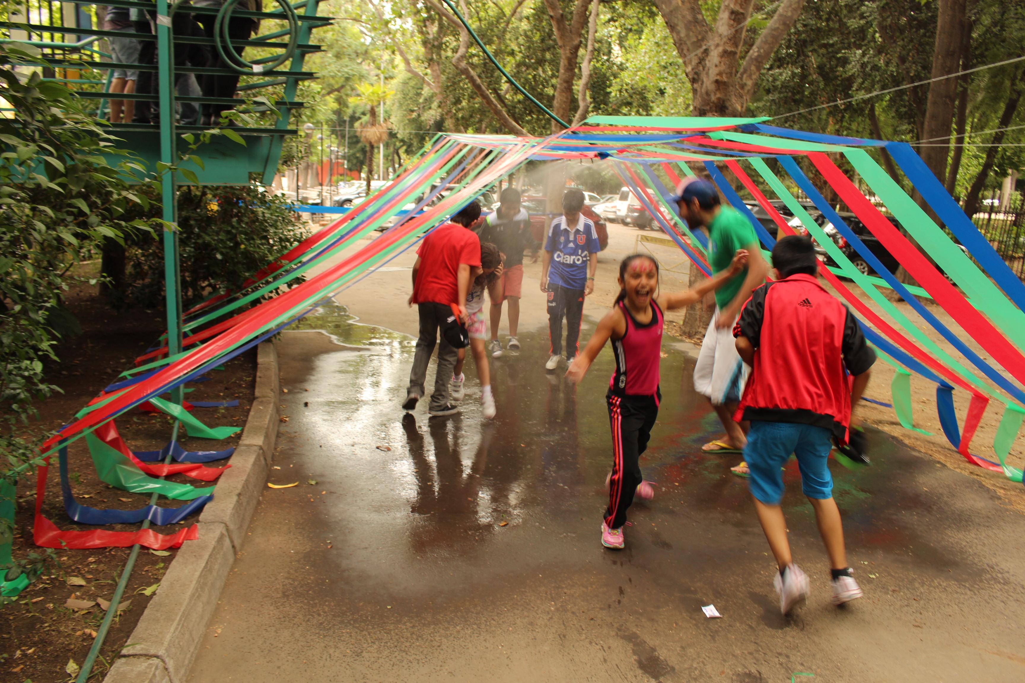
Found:
<svg viewBox="0 0 1025 683"><path fill-rule="evenodd" d="M491 355L502 354L502 343L498 340L498 325L502 319L502 303L508 302L509 338L508 349L520 350L517 334L520 328L520 297L523 294L523 253L532 251L532 262L537 261L538 245L530 234L530 214L520 205L520 190L506 187L502 190L498 210L484 219L481 228L481 243L494 244L502 253L504 270L501 278L488 285L491 300Z"/></svg>

